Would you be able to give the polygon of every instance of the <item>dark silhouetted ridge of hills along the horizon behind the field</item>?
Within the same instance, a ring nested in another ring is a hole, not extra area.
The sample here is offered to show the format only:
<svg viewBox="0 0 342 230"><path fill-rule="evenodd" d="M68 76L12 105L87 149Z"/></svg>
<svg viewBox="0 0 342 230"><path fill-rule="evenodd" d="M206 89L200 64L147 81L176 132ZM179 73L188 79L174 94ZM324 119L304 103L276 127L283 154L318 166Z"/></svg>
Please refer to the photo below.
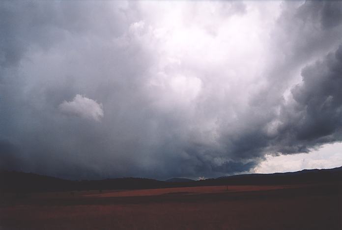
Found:
<svg viewBox="0 0 342 230"><path fill-rule="evenodd" d="M1 192L151 189L210 185L272 185L333 181L342 182L342 167L322 170L302 170L291 173L240 174L205 180L171 178L167 181L135 177L77 181L34 173L0 171Z"/></svg>

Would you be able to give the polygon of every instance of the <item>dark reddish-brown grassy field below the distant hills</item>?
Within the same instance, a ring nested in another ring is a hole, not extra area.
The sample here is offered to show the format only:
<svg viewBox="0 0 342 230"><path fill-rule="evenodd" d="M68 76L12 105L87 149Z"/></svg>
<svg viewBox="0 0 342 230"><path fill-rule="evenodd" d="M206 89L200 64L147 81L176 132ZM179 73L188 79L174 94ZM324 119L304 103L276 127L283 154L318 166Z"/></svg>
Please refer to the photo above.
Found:
<svg viewBox="0 0 342 230"><path fill-rule="evenodd" d="M1 194L0 229L341 230L341 184Z"/></svg>

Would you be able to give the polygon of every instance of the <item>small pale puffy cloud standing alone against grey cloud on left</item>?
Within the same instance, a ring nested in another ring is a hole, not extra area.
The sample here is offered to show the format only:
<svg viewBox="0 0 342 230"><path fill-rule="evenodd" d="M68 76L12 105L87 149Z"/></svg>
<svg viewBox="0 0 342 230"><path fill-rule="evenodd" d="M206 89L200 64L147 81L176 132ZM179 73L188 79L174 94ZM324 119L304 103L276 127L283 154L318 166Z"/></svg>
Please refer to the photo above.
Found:
<svg viewBox="0 0 342 230"><path fill-rule="evenodd" d="M77 94L72 101L63 101L59 110L65 114L76 115L99 121L103 117L103 106L95 100Z"/></svg>

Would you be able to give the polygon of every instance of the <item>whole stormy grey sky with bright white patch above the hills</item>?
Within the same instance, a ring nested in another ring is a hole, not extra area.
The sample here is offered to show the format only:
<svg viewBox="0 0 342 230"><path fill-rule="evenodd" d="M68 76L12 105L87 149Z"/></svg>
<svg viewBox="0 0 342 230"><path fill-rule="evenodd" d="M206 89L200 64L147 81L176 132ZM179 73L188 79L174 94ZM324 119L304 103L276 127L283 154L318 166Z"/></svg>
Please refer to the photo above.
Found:
<svg viewBox="0 0 342 230"><path fill-rule="evenodd" d="M342 1L1 1L0 169L342 166Z"/></svg>

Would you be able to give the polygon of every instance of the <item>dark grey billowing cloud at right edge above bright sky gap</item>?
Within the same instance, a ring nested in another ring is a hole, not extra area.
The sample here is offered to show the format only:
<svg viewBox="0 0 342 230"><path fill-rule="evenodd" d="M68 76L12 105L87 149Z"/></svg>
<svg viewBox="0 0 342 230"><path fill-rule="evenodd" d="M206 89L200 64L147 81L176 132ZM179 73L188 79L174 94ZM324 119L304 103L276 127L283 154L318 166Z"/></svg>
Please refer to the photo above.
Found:
<svg viewBox="0 0 342 230"><path fill-rule="evenodd" d="M281 137L287 148L341 141L342 46L302 70L303 82L292 88L293 101L282 107ZM283 151L286 153L286 151Z"/></svg>

